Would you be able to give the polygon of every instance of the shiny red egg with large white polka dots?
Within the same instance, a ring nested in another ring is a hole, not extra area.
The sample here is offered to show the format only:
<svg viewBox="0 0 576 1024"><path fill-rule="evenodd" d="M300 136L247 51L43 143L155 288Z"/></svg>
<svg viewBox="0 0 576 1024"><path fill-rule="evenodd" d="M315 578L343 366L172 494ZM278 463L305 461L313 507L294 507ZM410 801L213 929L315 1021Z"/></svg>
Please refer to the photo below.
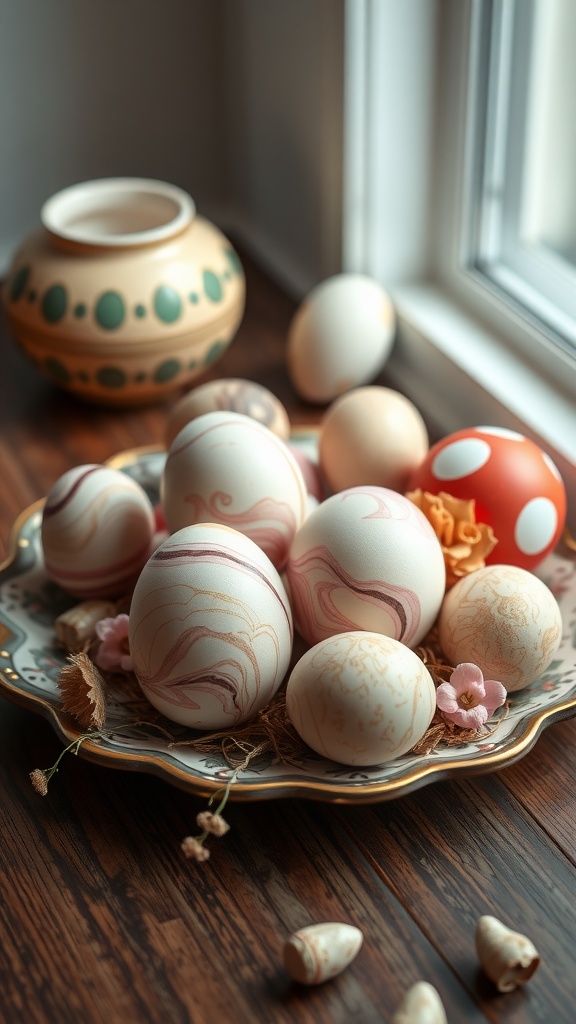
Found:
<svg viewBox="0 0 576 1024"><path fill-rule="evenodd" d="M501 427L472 427L430 447L412 474L410 490L441 490L476 502L498 544L488 564L531 569L560 540L566 489L549 456L523 434Z"/></svg>

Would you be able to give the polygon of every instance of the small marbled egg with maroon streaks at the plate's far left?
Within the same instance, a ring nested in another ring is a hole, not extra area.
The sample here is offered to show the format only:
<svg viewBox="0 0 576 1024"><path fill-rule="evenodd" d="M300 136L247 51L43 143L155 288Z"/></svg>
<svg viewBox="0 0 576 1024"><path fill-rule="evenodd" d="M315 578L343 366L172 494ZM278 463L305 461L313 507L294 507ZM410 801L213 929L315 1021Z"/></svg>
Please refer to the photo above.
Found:
<svg viewBox="0 0 576 1024"><path fill-rule="evenodd" d="M46 572L76 597L119 597L145 565L154 531L154 509L139 483L108 466L76 466L44 505Z"/></svg>

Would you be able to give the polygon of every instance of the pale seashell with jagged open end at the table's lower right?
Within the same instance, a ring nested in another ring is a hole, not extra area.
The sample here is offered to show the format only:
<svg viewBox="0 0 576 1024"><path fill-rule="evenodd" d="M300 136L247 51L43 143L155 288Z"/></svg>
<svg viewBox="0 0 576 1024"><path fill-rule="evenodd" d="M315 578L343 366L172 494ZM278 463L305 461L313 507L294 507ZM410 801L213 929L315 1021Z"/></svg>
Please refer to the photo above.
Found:
<svg viewBox="0 0 576 1024"><path fill-rule="evenodd" d="M540 963L530 939L489 914L478 921L476 948L484 971L499 992L511 992L524 985Z"/></svg>

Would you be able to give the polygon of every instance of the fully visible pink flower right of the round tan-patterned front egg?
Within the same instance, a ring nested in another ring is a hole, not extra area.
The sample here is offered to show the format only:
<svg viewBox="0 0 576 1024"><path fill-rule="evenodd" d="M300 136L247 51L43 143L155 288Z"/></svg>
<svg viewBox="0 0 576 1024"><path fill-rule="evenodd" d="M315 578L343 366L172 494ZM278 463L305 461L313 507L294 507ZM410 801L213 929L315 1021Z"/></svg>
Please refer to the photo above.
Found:
<svg viewBox="0 0 576 1024"><path fill-rule="evenodd" d="M449 683L436 691L436 702L446 718L463 729L480 729L496 708L506 699L506 691L495 679L485 679L478 665L458 665Z"/></svg>

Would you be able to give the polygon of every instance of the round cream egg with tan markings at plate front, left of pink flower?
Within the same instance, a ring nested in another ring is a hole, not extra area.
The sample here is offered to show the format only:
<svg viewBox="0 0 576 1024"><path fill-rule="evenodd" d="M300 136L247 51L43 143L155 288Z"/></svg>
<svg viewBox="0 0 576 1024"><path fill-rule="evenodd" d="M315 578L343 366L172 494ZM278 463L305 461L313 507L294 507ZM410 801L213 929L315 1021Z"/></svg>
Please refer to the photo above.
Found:
<svg viewBox="0 0 576 1024"><path fill-rule="evenodd" d="M286 709L317 754L346 765L378 765L422 738L436 710L436 687L418 655L398 640L341 633L296 664Z"/></svg>

